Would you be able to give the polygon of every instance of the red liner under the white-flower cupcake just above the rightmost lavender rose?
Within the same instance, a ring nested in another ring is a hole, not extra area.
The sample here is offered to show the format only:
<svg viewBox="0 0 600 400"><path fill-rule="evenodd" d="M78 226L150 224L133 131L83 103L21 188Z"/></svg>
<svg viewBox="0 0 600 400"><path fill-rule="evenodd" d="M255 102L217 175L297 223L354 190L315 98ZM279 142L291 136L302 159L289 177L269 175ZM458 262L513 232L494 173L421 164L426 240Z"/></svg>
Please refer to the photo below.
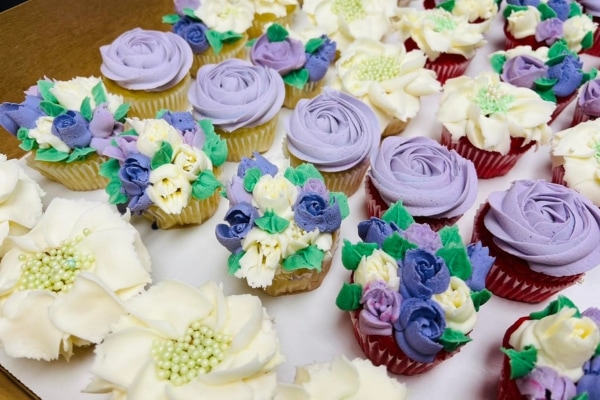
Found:
<svg viewBox="0 0 600 400"><path fill-rule="evenodd" d="M515 166L519 158L535 144L534 141L531 141L523 145L524 140L523 138L511 138L510 150L503 155L497 151L477 148L465 136L455 142L452 140L450 132L442 127L440 143L450 150L456 150L464 158L471 160L475 165L477 177L488 179L506 175Z"/></svg>

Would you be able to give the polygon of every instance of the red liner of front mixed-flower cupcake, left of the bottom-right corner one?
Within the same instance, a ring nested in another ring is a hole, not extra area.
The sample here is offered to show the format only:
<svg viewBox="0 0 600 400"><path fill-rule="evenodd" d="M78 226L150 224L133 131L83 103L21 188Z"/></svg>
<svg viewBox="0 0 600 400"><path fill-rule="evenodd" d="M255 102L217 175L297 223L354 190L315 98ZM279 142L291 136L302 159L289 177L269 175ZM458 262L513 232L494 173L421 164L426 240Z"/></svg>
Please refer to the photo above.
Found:
<svg viewBox="0 0 600 400"><path fill-rule="evenodd" d="M396 344L393 336L365 335L358 328L359 310L350 311L350 319L354 327L354 336L365 356L376 365L384 365L388 371L396 375L418 375L429 371L444 360L449 359L460 351L440 351L433 362L422 363L413 361Z"/></svg>

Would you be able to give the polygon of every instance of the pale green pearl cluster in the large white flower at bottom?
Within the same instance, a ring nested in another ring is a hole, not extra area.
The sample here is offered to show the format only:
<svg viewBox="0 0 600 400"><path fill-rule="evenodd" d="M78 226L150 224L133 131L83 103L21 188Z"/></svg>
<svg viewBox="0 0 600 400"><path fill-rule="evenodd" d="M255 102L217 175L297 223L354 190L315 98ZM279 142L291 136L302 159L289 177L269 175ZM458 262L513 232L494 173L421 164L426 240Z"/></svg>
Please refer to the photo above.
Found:
<svg viewBox="0 0 600 400"><path fill-rule="evenodd" d="M160 380L180 386L198 375L209 373L225 358L231 338L196 321L177 340L155 340L152 358Z"/></svg>

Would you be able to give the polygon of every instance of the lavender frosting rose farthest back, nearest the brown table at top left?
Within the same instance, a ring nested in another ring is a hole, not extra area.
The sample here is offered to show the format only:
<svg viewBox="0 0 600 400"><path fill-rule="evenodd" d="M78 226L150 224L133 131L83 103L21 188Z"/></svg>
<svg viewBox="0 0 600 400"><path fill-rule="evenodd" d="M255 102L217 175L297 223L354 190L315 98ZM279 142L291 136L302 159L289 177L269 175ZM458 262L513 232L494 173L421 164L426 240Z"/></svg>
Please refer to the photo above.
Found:
<svg viewBox="0 0 600 400"><path fill-rule="evenodd" d="M129 90L163 91L185 78L192 66L190 46L172 32L135 28L100 47L100 71Z"/></svg>

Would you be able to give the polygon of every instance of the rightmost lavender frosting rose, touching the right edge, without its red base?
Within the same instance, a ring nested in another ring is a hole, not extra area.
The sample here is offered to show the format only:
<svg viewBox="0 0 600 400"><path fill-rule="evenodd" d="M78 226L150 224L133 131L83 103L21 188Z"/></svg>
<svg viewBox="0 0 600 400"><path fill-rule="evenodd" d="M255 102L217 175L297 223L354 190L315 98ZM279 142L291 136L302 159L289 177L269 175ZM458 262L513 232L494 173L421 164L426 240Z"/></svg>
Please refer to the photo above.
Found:
<svg viewBox="0 0 600 400"><path fill-rule="evenodd" d="M491 193L486 229L502 250L550 276L577 275L600 264L600 210L572 189L518 180Z"/></svg>

